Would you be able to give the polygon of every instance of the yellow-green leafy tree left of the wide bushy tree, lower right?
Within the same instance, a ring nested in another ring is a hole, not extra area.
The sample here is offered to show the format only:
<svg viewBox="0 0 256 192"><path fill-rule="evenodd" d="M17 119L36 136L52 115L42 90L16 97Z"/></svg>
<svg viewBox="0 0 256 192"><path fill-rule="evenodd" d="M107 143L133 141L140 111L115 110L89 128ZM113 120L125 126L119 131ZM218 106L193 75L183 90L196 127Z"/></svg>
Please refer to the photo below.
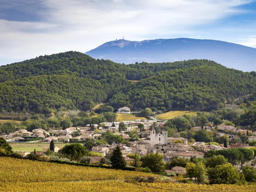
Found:
<svg viewBox="0 0 256 192"><path fill-rule="evenodd" d="M207 179L207 169L203 162L188 163L186 165L186 173L190 178L195 178L196 182L204 183Z"/></svg>

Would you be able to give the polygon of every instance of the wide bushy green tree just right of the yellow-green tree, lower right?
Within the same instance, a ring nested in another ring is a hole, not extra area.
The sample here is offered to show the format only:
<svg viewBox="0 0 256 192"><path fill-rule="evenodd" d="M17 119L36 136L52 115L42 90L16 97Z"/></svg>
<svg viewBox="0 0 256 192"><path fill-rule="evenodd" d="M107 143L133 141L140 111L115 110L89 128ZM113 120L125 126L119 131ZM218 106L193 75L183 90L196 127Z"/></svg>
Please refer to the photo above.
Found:
<svg viewBox="0 0 256 192"><path fill-rule="evenodd" d="M232 164L217 165L208 169L210 184L236 184L244 182Z"/></svg>

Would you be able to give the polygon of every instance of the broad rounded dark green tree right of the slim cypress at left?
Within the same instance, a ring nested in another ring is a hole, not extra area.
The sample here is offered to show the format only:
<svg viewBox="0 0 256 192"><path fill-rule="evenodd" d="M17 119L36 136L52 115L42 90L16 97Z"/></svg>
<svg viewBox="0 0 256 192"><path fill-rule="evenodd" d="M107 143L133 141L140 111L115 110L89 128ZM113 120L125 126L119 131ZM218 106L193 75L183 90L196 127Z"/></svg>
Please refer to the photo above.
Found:
<svg viewBox="0 0 256 192"><path fill-rule="evenodd" d="M62 148L62 154L65 154L71 160L76 160L76 161L79 161L80 158L82 158L83 156L87 156L88 153L89 152L86 149L86 147L78 143L68 144Z"/></svg>

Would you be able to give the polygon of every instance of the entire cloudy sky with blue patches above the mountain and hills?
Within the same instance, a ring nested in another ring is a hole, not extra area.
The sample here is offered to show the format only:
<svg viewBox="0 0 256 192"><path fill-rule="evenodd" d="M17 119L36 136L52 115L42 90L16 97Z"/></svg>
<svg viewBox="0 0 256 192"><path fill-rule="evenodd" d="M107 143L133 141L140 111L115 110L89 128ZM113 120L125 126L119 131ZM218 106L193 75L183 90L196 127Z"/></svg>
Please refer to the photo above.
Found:
<svg viewBox="0 0 256 192"><path fill-rule="evenodd" d="M0 0L0 65L87 52L123 36L256 48L256 0Z"/></svg>

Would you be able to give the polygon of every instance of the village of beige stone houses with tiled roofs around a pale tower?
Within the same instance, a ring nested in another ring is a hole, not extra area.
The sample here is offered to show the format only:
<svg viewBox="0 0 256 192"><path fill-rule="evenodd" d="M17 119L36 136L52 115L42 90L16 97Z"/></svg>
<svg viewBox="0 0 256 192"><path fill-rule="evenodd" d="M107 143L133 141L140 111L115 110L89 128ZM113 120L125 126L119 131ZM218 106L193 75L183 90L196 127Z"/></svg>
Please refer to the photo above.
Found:
<svg viewBox="0 0 256 192"><path fill-rule="evenodd" d="M130 114L130 108L120 108L116 113ZM189 160L193 158L204 158L204 154L209 150L218 151L227 150L228 148L250 148L248 142L256 142L256 132L222 124L216 127L193 127L192 131L197 132L202 129L206 130L206 132L213 131L218 134L218 136L226 136L228 140L239 138L238 133L239 135L248 135L248 133L250 133L252 136L248 136L248 140L243 143L233 143L231 145L218 145L211 142L205 143L195 141L193 139L188 140L182 137L168 137L168 131L165 129L166 122L157 122L157 120L152 119L137 119L134 121L122 122L102 122L100 124L87 124L85 127L69 127L65 130L46 131L43 129L34 129L32 132L28 132L24 129L3 135L2 138L4 138L9 143L26 142L37 143L39 145L40 143L49 143L49 145L44 146L41 151L36 151L36 154L38 155L44 154L49 150L51 141L55 143L54 152L56 153L61 151L61 147L58 146L58 144L68 144L74 142L86 144L86 142L90 142L92 143L92 147L88 148L88 150L94 152L94 154L100 154L90 157L90 163L92 164L99 163L101 158L107 156L107 154L113 151L117 145L122 151L122 156L124 156L124 159L129 164L129 162L133 161L133 159L129 157L132 154L138 154L141 157L144 157L147 154L158 153L162 154L162 160L165 163L168 163L171 162L174 158ZM122 129L120 126L122 126ZM106 134L111 135L111 138L107 140L108 143L105 142L104 144L101 144L99 141L103 137L106 137ZM120 140L120 138L122 139ZM118 142L118 140L120 142ZM25 157L33 151L17 152ZM254 165L254 160L255 157L245 164L249 166ZM240 168L240 165L236 165L236 167L237 166ZM180 167L180 170L166 170L166 172L180 172L184 174L186 169Z"/></svg>

